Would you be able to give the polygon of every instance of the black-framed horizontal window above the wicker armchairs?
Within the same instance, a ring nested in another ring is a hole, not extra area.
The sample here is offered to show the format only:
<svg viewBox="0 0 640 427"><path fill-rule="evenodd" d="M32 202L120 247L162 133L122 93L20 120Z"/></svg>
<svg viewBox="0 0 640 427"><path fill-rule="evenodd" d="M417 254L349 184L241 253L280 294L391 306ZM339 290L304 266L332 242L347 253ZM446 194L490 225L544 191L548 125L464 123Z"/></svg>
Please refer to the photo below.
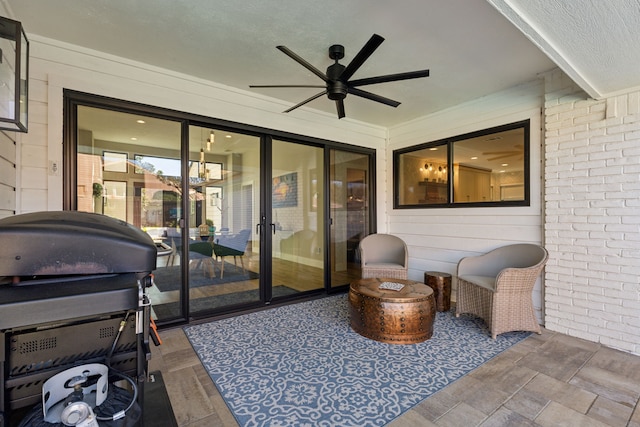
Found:
<svg viewBox="0 0 640 427"><path fill-rule="evenodd" d="M393 152L394 208L529 205L529 121Z"/></svg>

